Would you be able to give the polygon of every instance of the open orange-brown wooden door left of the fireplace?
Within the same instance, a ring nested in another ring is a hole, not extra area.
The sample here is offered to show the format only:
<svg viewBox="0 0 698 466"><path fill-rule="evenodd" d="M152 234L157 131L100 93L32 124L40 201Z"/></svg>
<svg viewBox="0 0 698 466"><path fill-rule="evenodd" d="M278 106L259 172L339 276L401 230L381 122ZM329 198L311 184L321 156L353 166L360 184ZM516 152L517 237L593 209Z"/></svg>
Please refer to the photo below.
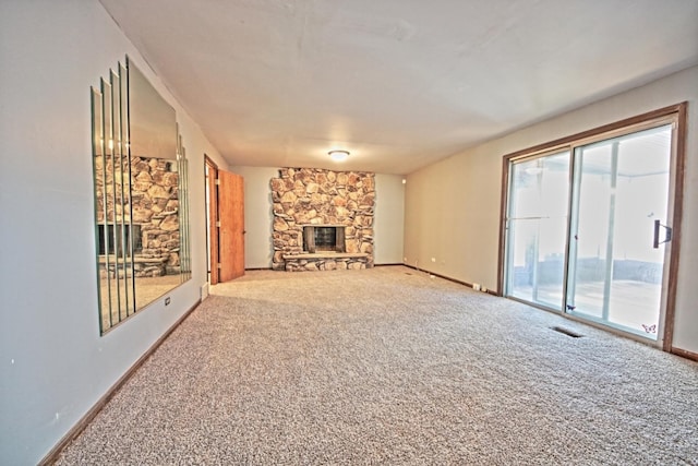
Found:
<svg viewBox="0 0 698 466"><path fill-rule="evenodd" d="M244 275L244 181L218 170L218 280Z"/></svg>

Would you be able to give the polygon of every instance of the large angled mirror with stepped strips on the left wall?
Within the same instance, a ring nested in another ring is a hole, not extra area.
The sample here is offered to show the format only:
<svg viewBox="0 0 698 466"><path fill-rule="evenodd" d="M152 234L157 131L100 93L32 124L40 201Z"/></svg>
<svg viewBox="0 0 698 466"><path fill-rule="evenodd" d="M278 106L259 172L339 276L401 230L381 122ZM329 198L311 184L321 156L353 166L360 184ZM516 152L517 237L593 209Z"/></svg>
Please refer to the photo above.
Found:
<svg viewBox="0 0 698 466"><path fill-rule="evenodd" d="M92 110L104 334L191 278L188 164L174 109L129 57L92 88Z"/></svg>

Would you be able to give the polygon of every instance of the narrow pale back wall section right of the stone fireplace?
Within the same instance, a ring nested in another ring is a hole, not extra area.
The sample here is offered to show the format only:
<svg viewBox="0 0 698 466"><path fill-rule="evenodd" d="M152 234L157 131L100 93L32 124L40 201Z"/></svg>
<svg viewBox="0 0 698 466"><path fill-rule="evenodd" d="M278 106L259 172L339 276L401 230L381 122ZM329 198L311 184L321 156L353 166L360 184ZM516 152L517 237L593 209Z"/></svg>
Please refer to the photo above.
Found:
<svg viewBox="0 0 698 466"><path fill-rule="evenodd" d="M405 184L401 175L375 174L373 262L401 264L405 236Z"/></svg>

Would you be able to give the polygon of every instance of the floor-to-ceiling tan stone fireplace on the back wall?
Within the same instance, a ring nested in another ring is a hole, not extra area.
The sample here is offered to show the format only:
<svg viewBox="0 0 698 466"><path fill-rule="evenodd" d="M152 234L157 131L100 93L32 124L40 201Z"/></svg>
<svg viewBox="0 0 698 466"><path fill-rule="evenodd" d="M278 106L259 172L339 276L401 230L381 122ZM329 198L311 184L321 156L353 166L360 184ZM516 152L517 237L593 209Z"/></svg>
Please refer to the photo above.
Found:
<svg viewBox="0 0 698 466"><path fill-rule="evenodd" d="M373 174L282 168L270 186L274 270L373 266Z"/></svg>

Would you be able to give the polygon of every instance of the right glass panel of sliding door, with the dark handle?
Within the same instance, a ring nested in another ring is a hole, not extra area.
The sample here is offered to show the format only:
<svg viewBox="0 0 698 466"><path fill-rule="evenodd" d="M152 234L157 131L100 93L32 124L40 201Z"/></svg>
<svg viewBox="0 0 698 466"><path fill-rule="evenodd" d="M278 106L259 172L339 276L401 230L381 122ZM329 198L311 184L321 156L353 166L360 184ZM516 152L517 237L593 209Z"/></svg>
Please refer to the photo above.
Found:
<svg viewBox="0 0 698 466"><path fill-rule="evenodd" d="M671 126L575 150L567 312L657 339L671 150Z"/></svg>

